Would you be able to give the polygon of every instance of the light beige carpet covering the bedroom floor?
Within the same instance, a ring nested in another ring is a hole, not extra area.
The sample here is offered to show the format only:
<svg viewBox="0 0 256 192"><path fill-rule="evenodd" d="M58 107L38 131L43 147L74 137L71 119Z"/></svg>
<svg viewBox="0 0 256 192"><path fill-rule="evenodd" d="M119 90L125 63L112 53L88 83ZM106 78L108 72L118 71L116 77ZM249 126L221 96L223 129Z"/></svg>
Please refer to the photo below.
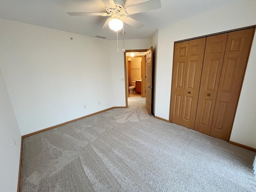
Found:
<svg viewBox="0 0 256 192"><path fill-rule="evenodd" d="M128 105L25 138L21 191L256 191L256 153Z"/></svg>

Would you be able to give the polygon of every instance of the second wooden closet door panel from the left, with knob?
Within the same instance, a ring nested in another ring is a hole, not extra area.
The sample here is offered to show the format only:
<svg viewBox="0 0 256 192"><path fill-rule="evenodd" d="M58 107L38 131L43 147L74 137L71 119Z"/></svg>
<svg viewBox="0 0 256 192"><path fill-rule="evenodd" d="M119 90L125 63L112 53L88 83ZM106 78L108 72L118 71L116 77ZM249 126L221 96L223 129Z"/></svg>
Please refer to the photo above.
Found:
<svg viewBox="0 0 256 192"><path fill-rule="evenodd" d="M206 38L190 40L185 74L181 124L194 129Z"/></svg>

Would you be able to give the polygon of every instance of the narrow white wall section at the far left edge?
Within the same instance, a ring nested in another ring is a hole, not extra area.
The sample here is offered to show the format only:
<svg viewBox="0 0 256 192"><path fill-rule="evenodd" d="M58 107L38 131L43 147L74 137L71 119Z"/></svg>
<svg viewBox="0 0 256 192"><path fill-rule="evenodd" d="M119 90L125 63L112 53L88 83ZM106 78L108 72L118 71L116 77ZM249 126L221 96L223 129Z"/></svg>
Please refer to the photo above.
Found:
<svg viewBox="0 0 256 192"><path fill-rule="evenodd" d="M1 70L0 109L0 191L14 192L18 186L21 134Z"/></svg>

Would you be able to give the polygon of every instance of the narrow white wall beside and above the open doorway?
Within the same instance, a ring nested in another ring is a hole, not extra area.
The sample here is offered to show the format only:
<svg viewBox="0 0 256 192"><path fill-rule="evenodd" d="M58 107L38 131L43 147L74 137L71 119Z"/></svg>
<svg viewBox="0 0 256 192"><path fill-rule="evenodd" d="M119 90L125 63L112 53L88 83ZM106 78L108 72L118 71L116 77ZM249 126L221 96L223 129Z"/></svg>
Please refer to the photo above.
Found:
<svg viewBox="0 0 256 192"><path fill-rule="evenodd" d="M110 41L114 106L126 106L125 82L121 81L121 78L124 78L124 52L122 51L123 45L126 50L149 49L152 45L150 39L124 40L124 44L122 40L119 40L118 44L119 52L116 50L116 40Z"/></svg>

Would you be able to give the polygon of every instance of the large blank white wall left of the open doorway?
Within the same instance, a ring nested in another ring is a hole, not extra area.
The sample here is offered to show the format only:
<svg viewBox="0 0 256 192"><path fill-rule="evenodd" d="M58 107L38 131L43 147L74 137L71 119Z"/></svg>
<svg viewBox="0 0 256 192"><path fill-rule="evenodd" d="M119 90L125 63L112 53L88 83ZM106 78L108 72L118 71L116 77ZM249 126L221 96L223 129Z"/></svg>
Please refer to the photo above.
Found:
<svg viewBox="0 0 256 192"><path fill-rule="evenodd" d="M22 135L113 106L108 40L3 19L0 26L0 68Z"/></svg>

